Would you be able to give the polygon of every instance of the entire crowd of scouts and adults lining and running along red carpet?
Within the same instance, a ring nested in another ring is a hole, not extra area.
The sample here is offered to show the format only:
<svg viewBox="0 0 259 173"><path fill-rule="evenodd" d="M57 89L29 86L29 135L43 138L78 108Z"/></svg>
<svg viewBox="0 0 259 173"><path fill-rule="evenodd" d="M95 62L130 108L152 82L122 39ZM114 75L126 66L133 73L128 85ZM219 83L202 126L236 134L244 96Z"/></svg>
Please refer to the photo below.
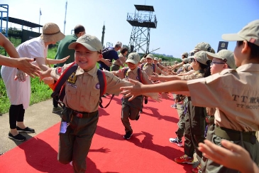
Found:
<svg viewBox="0 0 259 173"><path fill-rule="evenodd" d="M62 164L72 164L74 172L87 169L86 157L97 128L101 96L123 94L123 138L130 140L133 129L129 120L140 119L143 103L148 104L148 98L159 100L159 95L168 98L172 93L175 103L171 107L181 105L182 111L176 136L169 140L184 147L182 157L174 158L175 162L193 164L196 153L199 164L192 172L259 172L259 121L255 106L259 97L255 85L259 20L222 38L237 41L233 52L215 53L209 43L202 42L190 53L182 53L181 63L165 65L153 54L142 58L138 53L128 54L128 48L120 41L114 47L103 48L101 41L86 34L81 25L75 26L74 35L65 36L55 23L46 23L40 37L17 48L0 34L0 45L11 57L0 56L4 65L1 75L11 102L9 138L24 141L26 137L19 132L35 132L23 123L31 95L29 76L40 76L48 85L66 81L63 106L58 107L58 96L53 98L53 112L62 111L57 159ZM47 58L48 45L57 41L57 55L51 60ZM55 67L50 68L50 64ZM99 74L105 83L99 81ZM106 85L103 93L102 85Z"/></svg>

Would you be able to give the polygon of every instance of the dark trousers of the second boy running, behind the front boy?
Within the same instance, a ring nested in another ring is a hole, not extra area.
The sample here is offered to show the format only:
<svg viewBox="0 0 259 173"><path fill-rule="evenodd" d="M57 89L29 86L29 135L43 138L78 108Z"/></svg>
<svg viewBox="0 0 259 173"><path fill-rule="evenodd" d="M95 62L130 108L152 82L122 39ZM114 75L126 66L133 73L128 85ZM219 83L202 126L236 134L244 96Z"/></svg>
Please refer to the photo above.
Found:
<svg viewBox="0 0 259 173"><path fill-rule="evenodd" d="M122 108L121 108L121 122L125 127L125 132L132 132L130 120L136 120L136 117L139 115L141 108L142 96L138 96L128 101L128 98L123 98Z"/></svg>

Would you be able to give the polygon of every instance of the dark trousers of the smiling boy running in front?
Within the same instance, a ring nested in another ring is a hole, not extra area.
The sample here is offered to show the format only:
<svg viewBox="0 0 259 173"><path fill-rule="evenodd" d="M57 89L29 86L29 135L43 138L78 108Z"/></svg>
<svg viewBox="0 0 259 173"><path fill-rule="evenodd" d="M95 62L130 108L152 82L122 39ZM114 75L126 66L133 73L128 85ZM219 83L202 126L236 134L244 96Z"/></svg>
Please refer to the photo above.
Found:
<svg viewBox="0 0 259 173"><path fill-rule="evenodd" d="M93 117L72 117L72 122L65 133L60 133L57 160L62 164L73 161L74 172L84 173L87 169L86 158L92 143L99 112ZM62 115L62 122L67 122L67 115Z"/></svg>

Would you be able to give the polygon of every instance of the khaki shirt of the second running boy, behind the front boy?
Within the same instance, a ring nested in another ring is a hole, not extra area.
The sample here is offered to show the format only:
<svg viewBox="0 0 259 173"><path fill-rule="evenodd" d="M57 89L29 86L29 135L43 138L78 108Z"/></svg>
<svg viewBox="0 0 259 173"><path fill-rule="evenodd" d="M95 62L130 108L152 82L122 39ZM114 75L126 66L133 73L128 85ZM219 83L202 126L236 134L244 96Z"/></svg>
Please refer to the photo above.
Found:
<svg viewBox="0 0 259 173"><path fill-rule="evenodd" d="M121 79L125 79L127 80L127 78L125 78L126 76L124 76L126 68L121 68L120 70L116 71L115 75L117 75L119 78ZM138 67L135 68L134 70L131 70L130 68L128 68L127 72L128 74L128 78L133 79L133 80L138 80ZM142 80L143 80L143 84L153 84L151 82L151 80L148 79L148 75L141 70L141 74L142 74Z"/></svg>

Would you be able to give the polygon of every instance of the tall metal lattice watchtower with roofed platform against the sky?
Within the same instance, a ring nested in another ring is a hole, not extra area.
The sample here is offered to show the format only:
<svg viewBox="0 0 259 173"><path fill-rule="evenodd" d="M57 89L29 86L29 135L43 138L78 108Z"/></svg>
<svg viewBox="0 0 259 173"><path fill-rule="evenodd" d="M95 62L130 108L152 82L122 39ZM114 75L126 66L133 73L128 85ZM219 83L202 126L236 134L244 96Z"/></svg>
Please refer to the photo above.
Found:
<svg viewBox="0 0 259 173"><path fill-rule="evenodd" d="M134 5L135 14L128 14L127 21L133 26L131 39L128 43L130 52L149 53L150 28L157 27L156 16L153 15L153 6Z"/></svg>

